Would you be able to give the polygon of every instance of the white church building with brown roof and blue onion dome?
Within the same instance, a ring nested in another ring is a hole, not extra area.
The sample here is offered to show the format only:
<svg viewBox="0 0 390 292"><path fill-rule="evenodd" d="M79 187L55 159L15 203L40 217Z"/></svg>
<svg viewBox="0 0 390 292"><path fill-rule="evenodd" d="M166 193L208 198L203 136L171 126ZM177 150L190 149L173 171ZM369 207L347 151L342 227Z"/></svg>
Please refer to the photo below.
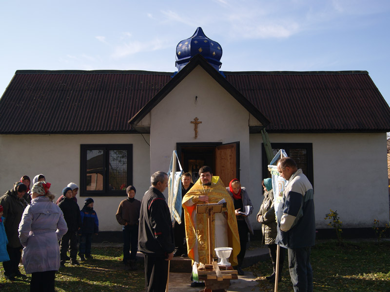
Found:
<svg viewBox="0 0 390 292"><path fill-rule="evenodd" d="M343 228L389 223L390 108L368 72L228 72L221 57L199 27L176 46L177 72L18 70L0 99L2 193L23 175L44 174L57 198L76 183L80 209L93 198L100 231L117 232L126 187L141 200L176 150L194 180L202 165L239 179L261 232L265 129L311 181L318 230L330 209Z"/></svg>

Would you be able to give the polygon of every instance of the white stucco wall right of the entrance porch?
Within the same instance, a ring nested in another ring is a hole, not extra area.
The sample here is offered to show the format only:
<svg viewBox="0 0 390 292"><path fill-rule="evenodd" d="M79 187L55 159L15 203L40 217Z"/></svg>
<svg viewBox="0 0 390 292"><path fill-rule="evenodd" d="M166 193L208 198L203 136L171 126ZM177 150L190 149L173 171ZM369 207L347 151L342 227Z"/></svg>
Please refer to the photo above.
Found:
<svg viewBox="0 0 390 292"><path fill-rule="evenodd" d="M271 143L312 143L317 228L329 228L325 214L337 210L345 228L389 222L386 133L270 134ZM251 185L260 185L260 134L252 134ZM261 187L261 185L260 185ZM255 212L263 196L250 193ZM252 191L252 188L251 188ZM254 226L260 228L255 216Z"/></svg>

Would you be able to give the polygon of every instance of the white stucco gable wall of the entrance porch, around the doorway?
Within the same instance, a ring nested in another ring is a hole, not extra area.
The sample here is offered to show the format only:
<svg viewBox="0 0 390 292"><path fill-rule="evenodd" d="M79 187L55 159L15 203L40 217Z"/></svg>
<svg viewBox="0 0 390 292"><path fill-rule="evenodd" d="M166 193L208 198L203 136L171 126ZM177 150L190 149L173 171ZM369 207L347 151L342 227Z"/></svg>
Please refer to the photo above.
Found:
<svg viewBox="0 0 390 292"><path fill-rule="evenodd" d="M191 124L195 117L202 122L196 139ZM240 180L248 184L248 121L249 112L201 67L196 67L151 111L151 172L168 170L176 143L239 141Z"/></svg>

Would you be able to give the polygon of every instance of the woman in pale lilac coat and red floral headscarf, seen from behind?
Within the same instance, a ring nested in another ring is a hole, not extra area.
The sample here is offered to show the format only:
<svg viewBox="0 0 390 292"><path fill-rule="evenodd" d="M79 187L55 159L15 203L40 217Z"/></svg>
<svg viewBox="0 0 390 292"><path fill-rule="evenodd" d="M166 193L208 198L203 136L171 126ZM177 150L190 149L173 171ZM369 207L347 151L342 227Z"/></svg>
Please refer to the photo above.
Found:
<svg viewBox="0 0 390 292"><path fill-rule="evenodd" d="M60 264L58 241L68 231L49 188L50 183L44 181L33 185L31 204L24 210L19 225L24 270L31 274L30 292L54 292Z"/></svg>

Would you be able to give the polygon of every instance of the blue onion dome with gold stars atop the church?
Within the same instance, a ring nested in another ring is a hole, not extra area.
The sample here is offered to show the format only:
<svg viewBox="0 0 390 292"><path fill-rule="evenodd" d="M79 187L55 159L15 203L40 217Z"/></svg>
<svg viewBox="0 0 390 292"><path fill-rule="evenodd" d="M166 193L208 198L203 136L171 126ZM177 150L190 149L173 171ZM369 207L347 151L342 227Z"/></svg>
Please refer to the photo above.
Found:
<svg viewBox="0 0 390 292"><path fill-rule="evenodd" d="M176 46L177 70L183 69L196 54L202 55L216 71L221 68L222 63L219 60L222 57L222 48L216 41L206 37L201 27L196 29L192 37L182 40Z"/></svg>

